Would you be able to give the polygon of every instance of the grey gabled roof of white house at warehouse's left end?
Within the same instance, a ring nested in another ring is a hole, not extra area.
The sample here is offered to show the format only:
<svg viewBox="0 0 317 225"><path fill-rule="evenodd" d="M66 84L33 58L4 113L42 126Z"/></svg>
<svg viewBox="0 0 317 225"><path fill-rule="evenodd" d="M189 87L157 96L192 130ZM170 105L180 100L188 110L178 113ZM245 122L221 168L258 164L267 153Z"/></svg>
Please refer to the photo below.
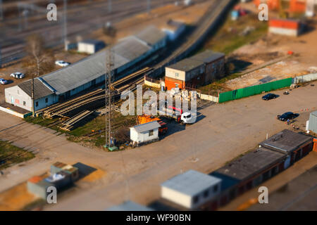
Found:
<svg viewBox="0 0 317 225"><path fill-rule="evenodd" d="M20 87L20 89L22 89L28 96L32 96L31 79L18 84L18 87ZM54 91L49 89L49 87L46 86L38 77L34 79L34 90L35 99L54 94Z"/></svg>

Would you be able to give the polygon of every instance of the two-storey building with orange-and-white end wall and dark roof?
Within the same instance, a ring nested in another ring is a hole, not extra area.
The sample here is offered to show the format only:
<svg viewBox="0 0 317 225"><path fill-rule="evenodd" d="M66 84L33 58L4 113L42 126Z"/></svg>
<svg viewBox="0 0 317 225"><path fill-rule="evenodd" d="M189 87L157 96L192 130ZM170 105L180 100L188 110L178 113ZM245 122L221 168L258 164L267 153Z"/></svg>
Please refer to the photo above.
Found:
<svg viewBox="0 0 317 225"><path fill-rule="evenodd" d="M225 54L206 50L167 66L166 89L196 88L224 75Z"/></svg>

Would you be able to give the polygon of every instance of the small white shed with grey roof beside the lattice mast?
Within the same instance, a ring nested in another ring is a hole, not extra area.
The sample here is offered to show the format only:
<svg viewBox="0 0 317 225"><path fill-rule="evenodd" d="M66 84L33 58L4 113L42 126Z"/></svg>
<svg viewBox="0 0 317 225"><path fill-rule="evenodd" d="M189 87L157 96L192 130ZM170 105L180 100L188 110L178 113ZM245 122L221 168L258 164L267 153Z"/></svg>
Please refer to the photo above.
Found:
<svg viewBox="0 0 317 225"><path fill-rule="evenodd" d="M130 139L136 143L159 139L159 127L161 127L161 125L157 121L130 127Z"/></svg>

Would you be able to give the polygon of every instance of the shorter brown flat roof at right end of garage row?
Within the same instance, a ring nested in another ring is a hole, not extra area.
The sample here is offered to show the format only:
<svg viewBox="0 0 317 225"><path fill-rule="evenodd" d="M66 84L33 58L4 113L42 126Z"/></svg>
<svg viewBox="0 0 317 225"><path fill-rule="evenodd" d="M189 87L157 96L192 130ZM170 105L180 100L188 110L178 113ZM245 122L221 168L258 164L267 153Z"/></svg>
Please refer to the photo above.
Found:
<svg viewBox="0 0 317 225"><path fill-rule="evenodd" d="M280 131L280 133L271 136L266 141L261 142L260 145L273 150L291 153L293 150L297 150L297 148L309 141L313 141L313 138L285 129Z"/></svg>

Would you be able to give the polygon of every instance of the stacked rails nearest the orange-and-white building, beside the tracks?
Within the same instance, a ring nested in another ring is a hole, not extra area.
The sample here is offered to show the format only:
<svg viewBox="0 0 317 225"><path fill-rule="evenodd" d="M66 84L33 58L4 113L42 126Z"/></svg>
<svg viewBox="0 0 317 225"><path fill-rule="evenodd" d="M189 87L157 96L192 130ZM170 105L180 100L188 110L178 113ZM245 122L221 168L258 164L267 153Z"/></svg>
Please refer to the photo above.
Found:
<svg viewBox="0 0 317 225"><path fill-rule="evenodd" d="M134 72L131 75L123 77L116 82L113 82L113 84L111 84L111 87L113 89L116 89L119 93L127 89L133 89L137 84L142 83L144 77L143 75L147 72L150 72L151 70L152 68L143 68L142 70Z"/></svg>

